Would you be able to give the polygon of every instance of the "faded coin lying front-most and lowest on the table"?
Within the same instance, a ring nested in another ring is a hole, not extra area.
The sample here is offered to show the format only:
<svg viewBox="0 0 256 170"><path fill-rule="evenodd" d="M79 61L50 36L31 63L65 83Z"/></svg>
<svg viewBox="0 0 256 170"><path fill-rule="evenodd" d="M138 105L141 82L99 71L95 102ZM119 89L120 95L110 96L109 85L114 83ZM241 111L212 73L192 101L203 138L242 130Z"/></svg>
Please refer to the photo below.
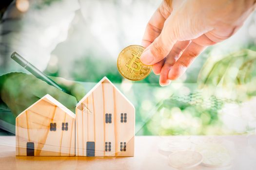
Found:
<svg viewBox="0 0 256 170"><path fill-rule="evenodd" d="M168 163L177 169L187 169L196 167L203 160L203 156L195 151L182 151L172 153L168 156Z"/></svg>

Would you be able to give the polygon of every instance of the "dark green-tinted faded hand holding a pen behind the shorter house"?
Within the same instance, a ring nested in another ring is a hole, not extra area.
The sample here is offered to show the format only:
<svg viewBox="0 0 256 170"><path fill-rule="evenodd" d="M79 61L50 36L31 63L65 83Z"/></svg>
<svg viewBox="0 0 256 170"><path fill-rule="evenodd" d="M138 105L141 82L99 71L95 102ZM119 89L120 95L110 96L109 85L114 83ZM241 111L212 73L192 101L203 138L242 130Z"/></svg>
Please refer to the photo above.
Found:
<svg viewBox="0 0 256 170"><path fill-rule="evenodd" d="M70 91L71 95L48 85L34 75L13 72L1 77L1 100L6 103L15 116L18 116L44 95L50 94L75 113L77 101L85 95L84 88L78 83L67 81L63 78L53 78L53 80Z"/></svg>

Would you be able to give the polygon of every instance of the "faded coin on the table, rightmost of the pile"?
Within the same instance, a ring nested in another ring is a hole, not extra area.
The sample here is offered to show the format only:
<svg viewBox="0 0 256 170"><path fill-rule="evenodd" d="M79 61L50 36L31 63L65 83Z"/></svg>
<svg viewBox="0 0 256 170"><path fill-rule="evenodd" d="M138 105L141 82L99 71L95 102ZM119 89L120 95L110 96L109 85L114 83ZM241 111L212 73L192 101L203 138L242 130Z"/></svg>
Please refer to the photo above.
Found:
<svg viewBox="0 0 256 170"><path fill-rule="evenodd" d="M203 155L203 166L221 168L231 165L231 155L221 144L206 143L197 145L195 151Z"/></svg>

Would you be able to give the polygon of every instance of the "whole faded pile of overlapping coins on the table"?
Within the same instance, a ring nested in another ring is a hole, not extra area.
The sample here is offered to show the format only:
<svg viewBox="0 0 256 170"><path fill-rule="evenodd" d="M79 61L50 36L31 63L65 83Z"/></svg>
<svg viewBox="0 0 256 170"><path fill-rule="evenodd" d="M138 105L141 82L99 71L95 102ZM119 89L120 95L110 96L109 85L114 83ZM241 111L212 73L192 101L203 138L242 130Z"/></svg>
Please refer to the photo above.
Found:
<svg viewBox="0 0 256 170"><path fill-rule="evenodd" d="M213 137L172 136L158 144L158 151L168 157L168 164L171 167L177 169L188 169L197 165L212 168L229 167L232 161L223 141Z"/></svg>

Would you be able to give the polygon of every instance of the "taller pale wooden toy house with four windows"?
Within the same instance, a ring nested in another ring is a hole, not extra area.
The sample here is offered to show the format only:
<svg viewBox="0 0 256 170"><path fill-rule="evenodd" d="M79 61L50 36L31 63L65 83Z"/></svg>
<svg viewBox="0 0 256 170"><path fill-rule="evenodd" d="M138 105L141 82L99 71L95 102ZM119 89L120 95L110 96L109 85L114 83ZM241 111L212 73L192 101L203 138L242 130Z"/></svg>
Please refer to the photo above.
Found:
<svg viewBox="0 0 256 170"><path fill-rule="evenodd" d="M104 77L76 107L77 156L134 156L135 108Z"/></svg>

